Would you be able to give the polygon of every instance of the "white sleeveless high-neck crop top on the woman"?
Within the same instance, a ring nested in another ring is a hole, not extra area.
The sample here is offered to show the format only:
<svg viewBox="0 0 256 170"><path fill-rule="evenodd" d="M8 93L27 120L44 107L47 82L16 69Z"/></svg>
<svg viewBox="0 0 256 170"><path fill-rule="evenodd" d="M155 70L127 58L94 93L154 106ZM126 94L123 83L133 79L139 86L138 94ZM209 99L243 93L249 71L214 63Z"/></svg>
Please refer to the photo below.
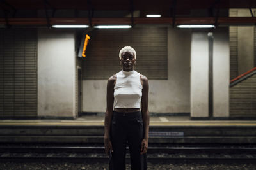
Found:
<svg viewBox="0 0 256 170"><path fill-rule="evenodd" d="M114 108L140 108L142 85L135 70L116 73Z"/></svg>

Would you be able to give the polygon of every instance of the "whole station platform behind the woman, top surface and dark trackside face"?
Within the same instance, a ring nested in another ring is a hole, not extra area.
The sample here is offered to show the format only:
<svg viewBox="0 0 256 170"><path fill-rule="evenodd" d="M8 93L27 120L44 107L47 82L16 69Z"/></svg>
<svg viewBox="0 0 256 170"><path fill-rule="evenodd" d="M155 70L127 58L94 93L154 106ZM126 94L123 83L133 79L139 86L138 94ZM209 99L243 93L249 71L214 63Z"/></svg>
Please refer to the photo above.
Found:
<svg viewBox="0 0 256 170"><path fill-rule="evenodd" d="M76 120L0 120L4 143L104 142L104 115ZM190 120L188 116L150 117L150 143L256 143L256 120Z"/></svg>

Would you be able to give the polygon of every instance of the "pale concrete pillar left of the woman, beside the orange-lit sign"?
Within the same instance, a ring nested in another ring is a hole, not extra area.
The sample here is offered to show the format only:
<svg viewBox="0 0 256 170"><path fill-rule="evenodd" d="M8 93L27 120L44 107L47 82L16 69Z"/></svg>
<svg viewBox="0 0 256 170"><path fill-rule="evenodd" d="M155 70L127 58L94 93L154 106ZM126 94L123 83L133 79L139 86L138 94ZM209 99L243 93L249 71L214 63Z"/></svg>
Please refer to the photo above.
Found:
<svg viewBox="0 0 256 170"><path fill-rule="evenodd" d="M38 30L38 116L75 115L73 31Z"/></svg>

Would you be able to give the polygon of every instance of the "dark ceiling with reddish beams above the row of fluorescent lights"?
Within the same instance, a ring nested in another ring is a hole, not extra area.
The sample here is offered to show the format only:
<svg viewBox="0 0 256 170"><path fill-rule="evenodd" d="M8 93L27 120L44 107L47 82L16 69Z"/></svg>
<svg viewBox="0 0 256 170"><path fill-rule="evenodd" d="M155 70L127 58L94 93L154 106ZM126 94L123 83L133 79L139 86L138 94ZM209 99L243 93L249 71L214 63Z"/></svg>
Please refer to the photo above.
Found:
<svg viewBox="0 0 256 170"><path fill-rule="evenodd" d="M256 8L255 0L0 0L0 24L49 24L60 23L83 23L113 21L118 18L114 24L125 24L130 22L127 18L132 15L135 23L165 23L166 20L172 20L175 23L183 17L183 20L189 18L195 22L216 22L221 21L230 23L228 10L230 8ZM132 13L132 15L131 15ZM162 18L145 18L147 14L161 14ZM184 19L185 17L185 19ZM195 19L195 18L204 19ZM36 20L37 18L37 20ZM60 20L56 21L56 18ZM65 18L65 19L64 19ZM68 18L68 19L67 19ZM97 20L105 18L106 20ZM120 19L126 18L126 19ZM144 19L143 19L144 18ZM68 21L67 21L68 20ZM255 23L255 17L246 18L247 22ZM26 22L25 22L26 21ZM37 22L36 22L37 21ZM122 22L121 22L122 21ZM168 23L171 23L168 21ZM232 18L232 22L241 22L241 18ZM243 20L244 22L244 20ZM110 24L113 24L110 23ZM176 24L176 23L175 23Z"/></svg>

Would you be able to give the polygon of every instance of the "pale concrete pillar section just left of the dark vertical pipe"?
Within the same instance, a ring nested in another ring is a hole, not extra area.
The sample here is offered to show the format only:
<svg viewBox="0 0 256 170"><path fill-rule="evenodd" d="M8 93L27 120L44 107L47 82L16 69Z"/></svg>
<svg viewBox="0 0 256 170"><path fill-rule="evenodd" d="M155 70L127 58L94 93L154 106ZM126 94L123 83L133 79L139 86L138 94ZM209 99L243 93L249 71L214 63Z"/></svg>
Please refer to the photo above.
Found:
<svg viewBox="0 0 256 170"><path fill-rule="evenodd" d="M205 31L194 31L191 38L191 117L208 117L208 36Z"/></svg>

